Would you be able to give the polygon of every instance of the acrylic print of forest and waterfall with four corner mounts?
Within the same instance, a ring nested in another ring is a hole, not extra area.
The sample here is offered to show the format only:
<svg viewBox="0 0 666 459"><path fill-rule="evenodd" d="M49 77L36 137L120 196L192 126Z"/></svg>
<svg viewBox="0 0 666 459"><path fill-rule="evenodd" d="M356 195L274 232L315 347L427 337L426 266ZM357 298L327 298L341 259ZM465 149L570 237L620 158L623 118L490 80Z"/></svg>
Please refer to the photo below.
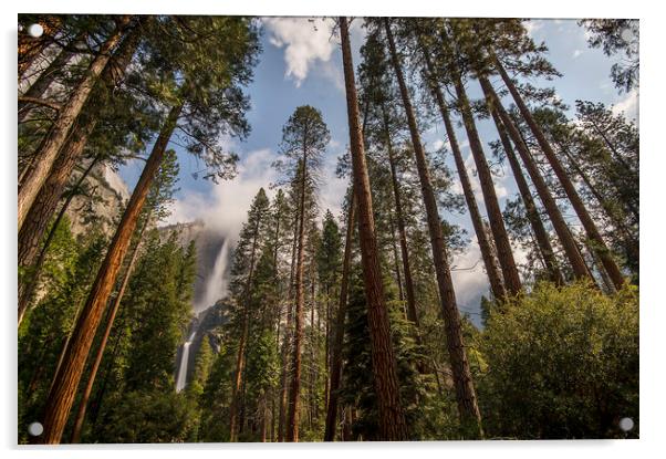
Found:
<svg viewBox="0 0 666 459"><path fill-rule="evenodd" d="M19 22L19 444L638 437L638 21Z"/></svg>

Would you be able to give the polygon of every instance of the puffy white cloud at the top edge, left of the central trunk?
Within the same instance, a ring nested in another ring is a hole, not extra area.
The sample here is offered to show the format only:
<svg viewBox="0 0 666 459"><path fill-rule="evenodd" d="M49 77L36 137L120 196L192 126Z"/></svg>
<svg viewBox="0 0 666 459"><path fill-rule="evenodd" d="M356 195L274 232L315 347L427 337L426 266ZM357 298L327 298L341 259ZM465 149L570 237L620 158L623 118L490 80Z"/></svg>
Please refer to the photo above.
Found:
<svg viewBox="0 0 666 459"><path fill-rule="evenodd" d="M316 62L329 62L336 48L332 39L333 20L321 18L263 18L269 42L284 48L285 76L296 86L308 77Z"/></svg>

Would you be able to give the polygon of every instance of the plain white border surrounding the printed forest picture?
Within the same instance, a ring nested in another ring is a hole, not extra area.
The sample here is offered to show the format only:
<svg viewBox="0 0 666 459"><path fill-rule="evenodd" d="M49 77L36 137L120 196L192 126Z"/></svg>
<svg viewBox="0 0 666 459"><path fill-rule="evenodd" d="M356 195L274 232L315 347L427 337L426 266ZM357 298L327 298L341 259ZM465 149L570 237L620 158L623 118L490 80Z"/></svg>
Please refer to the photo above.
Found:
<svg viewBox="0 0 666 459"><path fill-rule="evenodd" d="M0 186L3 223L2 242L4 259L0 273L2 302L1 343L3 372L0 378L2 390L0 398L0 446L6 449L3 457L66 457L117 459L118 455L128 458L145 457L146 452L160 458L238 458L270 457L294 458L315 456L318 459L353 456L381 456L400 458L410 456L414 450L422 456L467 459L485 456L491 458L558 458L601 457L627 458L662 455L666 450L660 427L664 426L664 378L665 361L660 356L664 346L662 336L666 326L665 302L659 301L659 286L664 285L666 268L664 257L663 229L666 209L663 182L666 171L666 152L664 148L664 23L657 2L627 2L606 0L584 2L580 0L556 0L537 2L527 0L492 1L471 0L408 0L362 2L358 0L243 0L202 1L178 0L171 2L155 0L114 0L112 2L91 2L90 0L58 0L22 2L2 2L2 86L0 106L3 122L3 149L1 171L4 174ZM641 195L643 218L641 231L642 246L642 305L641 305L641 440L633 441L532 441L532 442L428 442L428 444L335 444L335 445L181 445L181 446L100 446L30 448L15 447L15 363L17 332L14 325L15 304L15 18L18 12L90 12L90 13L201 13L201 14L257 14L257 15L467 15L467 17L521 17L521 18L638 18L641 19L641 134L645 148L641 164ZM664 295L662 294L662 298ZM660 358L659 358L660 357ZM118 451L121 449L121 451Z"/></svg>

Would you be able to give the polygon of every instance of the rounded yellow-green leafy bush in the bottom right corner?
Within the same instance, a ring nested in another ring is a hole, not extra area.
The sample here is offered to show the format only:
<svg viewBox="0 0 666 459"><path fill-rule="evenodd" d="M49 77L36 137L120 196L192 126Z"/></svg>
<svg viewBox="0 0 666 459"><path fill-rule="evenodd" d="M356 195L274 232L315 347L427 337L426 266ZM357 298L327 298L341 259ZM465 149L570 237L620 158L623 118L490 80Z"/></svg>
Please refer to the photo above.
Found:
<svg viewBox="0 0 666 459"><path fill-rule="evenodd" d="M479 336L490 437L621 438L638 421L638 294L540 283L493 311ZM637 429L632 434L637 435Z"/></svg>

